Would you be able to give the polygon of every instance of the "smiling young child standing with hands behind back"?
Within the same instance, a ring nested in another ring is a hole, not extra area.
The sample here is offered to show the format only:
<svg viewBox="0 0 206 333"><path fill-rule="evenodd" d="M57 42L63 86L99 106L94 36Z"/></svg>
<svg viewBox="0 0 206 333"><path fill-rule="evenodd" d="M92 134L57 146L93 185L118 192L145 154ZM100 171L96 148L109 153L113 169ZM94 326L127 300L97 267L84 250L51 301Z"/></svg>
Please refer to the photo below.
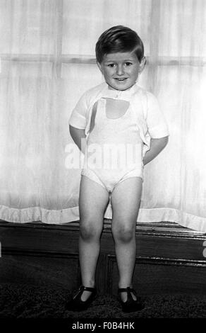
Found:
<svg viewBox="0 0 206 333"><path fill-rule="evenodd" d="M146 62L137 33L124 26L104 31L96 44L96 58L105 83L83 94L69 121L85 163L79 198L83 286L66 307L85 310L95 298L99 242L111 200L119 300L123 312L132 312L143 309L132 287L143 166L164 149L169 133L157 99L136 84Z"/></svg>

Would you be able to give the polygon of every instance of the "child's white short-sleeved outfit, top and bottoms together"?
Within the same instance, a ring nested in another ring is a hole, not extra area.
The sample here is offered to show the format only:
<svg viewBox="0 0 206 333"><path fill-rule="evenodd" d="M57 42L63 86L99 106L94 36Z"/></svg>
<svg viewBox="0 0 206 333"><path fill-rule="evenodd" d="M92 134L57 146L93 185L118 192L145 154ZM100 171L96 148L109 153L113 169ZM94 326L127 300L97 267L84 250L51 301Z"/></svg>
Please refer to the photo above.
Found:
<svg viewBox="0 0 206 333"><path fill-rule="evenodd" d="M108 117L109 100L128 102L126 112L116 119ZM95 125L91 128L96 107ZM85 130L87 151L82 174L109 192L129 177L143 179L143 157L150 149L150 139L169 135L157 98L138 84L126 91L115 91L103 83L86 91L73 109L69 124ZM131 155L131 150L135 150L133 161L125 157Z"/></svg>

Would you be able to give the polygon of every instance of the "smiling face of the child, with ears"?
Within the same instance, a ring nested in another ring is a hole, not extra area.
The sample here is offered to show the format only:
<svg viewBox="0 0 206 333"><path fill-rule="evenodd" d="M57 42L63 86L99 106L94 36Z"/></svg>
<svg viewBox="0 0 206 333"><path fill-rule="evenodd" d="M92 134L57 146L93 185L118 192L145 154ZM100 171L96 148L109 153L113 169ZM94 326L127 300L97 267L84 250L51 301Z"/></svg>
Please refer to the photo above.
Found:
<svg viewBox="0 0 206 333"><path fill-rule="evenodd" d="M145 58L139 62L134 52L109 53L97 65L111 89L126 90L135 84L143 71Z"/></svg>

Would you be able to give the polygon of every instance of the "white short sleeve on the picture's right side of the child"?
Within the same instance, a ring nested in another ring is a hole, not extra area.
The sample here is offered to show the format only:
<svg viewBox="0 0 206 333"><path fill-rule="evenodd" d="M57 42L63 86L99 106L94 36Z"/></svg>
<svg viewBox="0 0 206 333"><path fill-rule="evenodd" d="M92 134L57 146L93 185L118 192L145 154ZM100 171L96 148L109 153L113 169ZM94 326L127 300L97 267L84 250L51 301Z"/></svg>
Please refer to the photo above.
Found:
<svg viewBox="0 0 206 333"><path fill-rule="evenodd" d="M168 126L164 115L159 108L157 98L147 92L147 128L150 137L159 139L169 135Z"/></svg>

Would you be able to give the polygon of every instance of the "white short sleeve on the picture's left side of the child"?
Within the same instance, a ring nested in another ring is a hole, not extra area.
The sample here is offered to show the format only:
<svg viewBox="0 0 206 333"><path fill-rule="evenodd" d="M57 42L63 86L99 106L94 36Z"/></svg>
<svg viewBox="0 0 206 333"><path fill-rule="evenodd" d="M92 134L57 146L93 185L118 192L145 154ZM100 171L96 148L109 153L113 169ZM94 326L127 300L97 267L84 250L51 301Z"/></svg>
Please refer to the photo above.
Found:
<svg viewBox="0 0 206 333"><path fill-rule="evenodd" d="M71 117L68 120L69 125L73 126L74 128L84 130L87 125L86 113L86 94L83 94L71 113Z"/></svg>

